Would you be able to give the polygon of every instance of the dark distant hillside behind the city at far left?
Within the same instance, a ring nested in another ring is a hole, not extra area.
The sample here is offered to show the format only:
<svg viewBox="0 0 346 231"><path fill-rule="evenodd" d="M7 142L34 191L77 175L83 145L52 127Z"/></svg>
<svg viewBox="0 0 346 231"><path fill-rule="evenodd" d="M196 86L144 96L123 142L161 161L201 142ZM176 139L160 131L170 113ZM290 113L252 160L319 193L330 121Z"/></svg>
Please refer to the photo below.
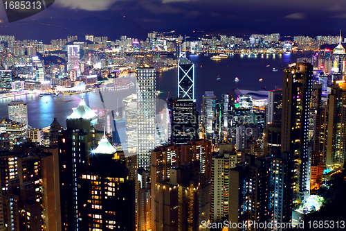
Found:
<svg viewBox="0 0 346 231"><path fill-rule="evenodd" d="M17 40L42 40L46 44L51 40L71 35L78 35L78 40L84 40L85 35L107 36L109 40L119 40L121 35L127 35L145 40L150 32L129 17L44 19L12 23L10 26L1 27L0 31L1 35L15 35Z"/></svg>

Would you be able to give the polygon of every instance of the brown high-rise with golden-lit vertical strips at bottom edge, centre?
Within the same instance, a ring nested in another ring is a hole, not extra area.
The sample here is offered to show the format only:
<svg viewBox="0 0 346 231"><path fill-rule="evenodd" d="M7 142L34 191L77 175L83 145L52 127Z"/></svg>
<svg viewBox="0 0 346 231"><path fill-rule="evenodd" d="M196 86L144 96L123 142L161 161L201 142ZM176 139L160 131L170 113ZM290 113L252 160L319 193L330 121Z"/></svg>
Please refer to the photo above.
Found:
<svg viewBox="0 0 346 231"><path fill-rule="evenodd" d="M195 161L176 166L170 180L154 185L153 230L199 230L201 222L209 220L210 184L199 165Z"/></svg>

